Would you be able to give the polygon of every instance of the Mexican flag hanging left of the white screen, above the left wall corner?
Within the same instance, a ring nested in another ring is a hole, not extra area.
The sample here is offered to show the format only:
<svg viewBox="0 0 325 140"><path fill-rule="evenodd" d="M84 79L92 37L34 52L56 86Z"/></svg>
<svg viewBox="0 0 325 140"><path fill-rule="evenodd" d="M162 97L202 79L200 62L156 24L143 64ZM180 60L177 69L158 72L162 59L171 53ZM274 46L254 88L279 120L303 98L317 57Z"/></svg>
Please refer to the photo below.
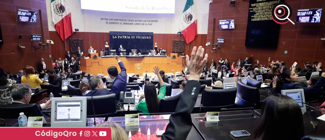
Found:
<svg viewBox="0 0 325 140"><path fill-rule="evenodd" d="M71 11L67 0L51 0L51 13L54 28L62 41L72 33Z"/></svg>

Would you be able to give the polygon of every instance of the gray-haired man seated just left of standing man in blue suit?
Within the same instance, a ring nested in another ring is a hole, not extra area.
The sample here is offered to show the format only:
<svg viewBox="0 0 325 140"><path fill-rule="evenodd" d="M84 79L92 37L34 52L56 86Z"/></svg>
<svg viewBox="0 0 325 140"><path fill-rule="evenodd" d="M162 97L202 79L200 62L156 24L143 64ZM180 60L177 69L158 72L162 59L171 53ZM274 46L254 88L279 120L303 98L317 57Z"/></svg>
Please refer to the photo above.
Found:
<svg viewBox="0 0 325 140"><path fill-rule="evenodd" d="M100 76L93 76L90 78L90 91L84 96L101 96L101 95L109 95L111 94L106 88L104 88L103 80L101 80Z"/></svg>

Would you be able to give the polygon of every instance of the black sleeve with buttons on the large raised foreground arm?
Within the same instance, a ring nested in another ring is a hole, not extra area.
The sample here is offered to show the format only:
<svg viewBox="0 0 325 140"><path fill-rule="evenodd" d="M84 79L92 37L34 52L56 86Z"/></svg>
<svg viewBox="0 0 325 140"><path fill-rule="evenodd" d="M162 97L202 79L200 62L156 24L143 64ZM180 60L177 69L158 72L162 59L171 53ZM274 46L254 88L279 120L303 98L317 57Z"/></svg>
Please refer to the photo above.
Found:
<svg viewBox="0 0 325 140"><path fill-rule="evenodd" d="M173 113L162 140L185 140L192 129L191 112L200 92L201 84L196 80L186 83L183 93Z"/></svg>

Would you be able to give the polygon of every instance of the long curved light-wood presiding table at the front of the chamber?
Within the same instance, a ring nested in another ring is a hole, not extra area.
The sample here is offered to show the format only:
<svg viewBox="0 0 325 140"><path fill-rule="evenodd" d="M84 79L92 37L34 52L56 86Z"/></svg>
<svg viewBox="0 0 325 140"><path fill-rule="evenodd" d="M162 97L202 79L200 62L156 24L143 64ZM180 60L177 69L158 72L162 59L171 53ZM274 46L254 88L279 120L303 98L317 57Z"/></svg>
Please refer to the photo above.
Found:
<svg viewBox="0 0 325 140"><path fill-rule="evenodd" d="M171 73L172 70L180 71L185 65L185 57L177 57L177 53L167 56L120 56L126 73L137 73L142 76L146 70L151 71L154 66L159 66L165 73ZM91 54L89 59L80 59L80 69L86 73L107 74L107 68L115 66L119 72L121 69L117 60L113 56L98 57L98 54Z"/></svg>

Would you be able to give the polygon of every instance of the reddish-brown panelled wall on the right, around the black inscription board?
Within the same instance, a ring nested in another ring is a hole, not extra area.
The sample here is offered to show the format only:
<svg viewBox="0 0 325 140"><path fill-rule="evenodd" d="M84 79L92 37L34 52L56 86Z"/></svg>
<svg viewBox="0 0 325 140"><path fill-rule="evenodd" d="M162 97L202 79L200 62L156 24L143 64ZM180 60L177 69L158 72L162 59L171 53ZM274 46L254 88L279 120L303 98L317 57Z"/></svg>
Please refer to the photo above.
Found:
<svg viewBox="0 0 325 140"><path fill-rule="evenodd" d="M285 0L292 7L292 18L295 22L297 9L312 9L325 7L323 0ZM267 64L268 57L271 60L285 61L287 66L293 62L303 66L303 62L314 61L325 62L324 52L325 41L320 40L325 37L325 17L321 17L320 23L296 23L290 22L280 27L278 47L275 49L251 48L245 47L247 14L249 1L240 1L236 5L230 5L227 0L214 0L209 7L208 35L207 42L216 42L216 38L225 38L224 44L219 44L220 49L212 50L208 46L209 63L212 59L218 61L220 57L228 58L230 62L237 62L239 58L245 59L253 55L251 64L259 60L260 64ZM323 8L324 9L324 8ZM213 31L213 19L235 19L234 30L220 30L219 22L216 22L215 31ZM215 38L212 38L212 32L215 32ZM288 54L284 54L287 50Z"/></svg>

